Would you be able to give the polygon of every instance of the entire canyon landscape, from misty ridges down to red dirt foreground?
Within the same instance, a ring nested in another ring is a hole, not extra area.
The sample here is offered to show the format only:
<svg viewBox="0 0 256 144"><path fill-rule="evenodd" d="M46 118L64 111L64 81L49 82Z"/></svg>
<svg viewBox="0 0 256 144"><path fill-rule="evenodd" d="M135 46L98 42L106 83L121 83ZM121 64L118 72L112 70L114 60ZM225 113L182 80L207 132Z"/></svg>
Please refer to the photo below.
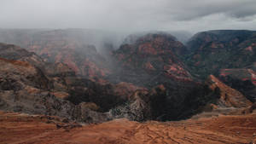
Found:
<svg viewBox="0 0 256 144"><path fill-rule="evenodd" d="M0 142L252 143L255 36L2 30Z"/></svg>

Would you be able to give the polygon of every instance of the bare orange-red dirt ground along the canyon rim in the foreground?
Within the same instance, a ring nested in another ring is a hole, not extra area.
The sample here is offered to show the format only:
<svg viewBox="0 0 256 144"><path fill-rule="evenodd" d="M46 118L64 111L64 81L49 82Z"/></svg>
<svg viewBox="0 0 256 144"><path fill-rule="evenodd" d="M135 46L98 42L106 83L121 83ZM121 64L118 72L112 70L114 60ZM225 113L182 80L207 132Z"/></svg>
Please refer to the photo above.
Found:
<svg viewBox="0 0 256 144"><path fill-rule="evenodd" d="M58 124L58 125L56 125ZM62 125L62 127L60 126ZM65 126L66 125L66 126ZM58 118L0 112L0 143L250 143L256 141L256 114L178 122L64 124Z"/></svg>

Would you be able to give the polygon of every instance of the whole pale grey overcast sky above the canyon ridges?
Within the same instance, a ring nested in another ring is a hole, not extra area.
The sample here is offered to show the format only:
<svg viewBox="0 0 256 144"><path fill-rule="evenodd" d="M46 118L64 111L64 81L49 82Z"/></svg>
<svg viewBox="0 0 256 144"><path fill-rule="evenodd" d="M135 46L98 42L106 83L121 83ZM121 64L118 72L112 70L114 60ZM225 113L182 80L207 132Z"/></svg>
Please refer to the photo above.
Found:
<svg viewBox="0 0 256 144"><path fill-rule="evenodd" d="M0 0L0 28L256 30L256 0Z"/></svg>

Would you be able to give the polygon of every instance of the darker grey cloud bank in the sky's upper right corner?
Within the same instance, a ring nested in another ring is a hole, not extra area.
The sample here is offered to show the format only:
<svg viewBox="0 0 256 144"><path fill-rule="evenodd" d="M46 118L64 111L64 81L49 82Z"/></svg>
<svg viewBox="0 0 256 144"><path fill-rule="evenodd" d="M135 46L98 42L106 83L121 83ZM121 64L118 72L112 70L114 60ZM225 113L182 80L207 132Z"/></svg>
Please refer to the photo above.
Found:
<svg viewBox="0 0 256 144"><path fill-rule="evenodd" d="M212 14L226 14L232 18L243 18L256 14L256 2L253 0L193 0L180 3L172 1L166 4L166 14L175 20L195 20ZM168 9L172 5L172 9ZM173 6L175 5L175 6Z"/></svg>

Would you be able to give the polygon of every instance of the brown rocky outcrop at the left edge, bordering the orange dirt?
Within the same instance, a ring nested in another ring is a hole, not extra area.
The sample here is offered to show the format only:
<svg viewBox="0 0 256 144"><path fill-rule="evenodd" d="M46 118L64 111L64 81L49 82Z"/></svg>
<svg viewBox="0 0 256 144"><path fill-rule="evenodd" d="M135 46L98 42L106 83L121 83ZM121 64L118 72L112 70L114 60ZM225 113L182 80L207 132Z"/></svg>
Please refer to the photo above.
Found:
<svg viewBox="0 0 256 144"><path fill-rule="evenodd" d="M66 101L71 94L54 92L49 78L26 61L1 58L0 65L1 110L55 115L84 123L111 119L108 113L96 112L99 107L94 103L74 105Z"/></svg>

